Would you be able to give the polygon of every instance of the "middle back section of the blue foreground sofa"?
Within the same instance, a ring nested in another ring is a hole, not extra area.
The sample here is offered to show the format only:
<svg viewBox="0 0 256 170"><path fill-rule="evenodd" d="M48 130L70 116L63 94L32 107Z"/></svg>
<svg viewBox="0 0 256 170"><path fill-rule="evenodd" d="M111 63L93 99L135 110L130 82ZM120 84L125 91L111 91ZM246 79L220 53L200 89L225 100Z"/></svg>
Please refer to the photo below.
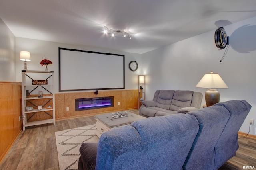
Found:
<svg viewBox="0 0 256 170"><path fill-rule="evenodd" d="M215 150L222 131L230 117L222 106L211 106L187 113L199 122L199 131L186 158L184 170L213 170Z"/></svg>

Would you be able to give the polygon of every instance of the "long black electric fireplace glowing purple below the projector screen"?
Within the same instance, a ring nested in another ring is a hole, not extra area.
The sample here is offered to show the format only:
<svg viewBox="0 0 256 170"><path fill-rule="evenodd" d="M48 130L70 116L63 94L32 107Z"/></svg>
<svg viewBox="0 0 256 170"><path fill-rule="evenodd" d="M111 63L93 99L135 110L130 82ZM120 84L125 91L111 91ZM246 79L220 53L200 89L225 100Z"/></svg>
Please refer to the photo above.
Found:
<svg viewBox="0 0 256 170"><path fill-rule="evenodd" d="M114 107L114 96L80 98L75 101L76 111Z"/></svg>

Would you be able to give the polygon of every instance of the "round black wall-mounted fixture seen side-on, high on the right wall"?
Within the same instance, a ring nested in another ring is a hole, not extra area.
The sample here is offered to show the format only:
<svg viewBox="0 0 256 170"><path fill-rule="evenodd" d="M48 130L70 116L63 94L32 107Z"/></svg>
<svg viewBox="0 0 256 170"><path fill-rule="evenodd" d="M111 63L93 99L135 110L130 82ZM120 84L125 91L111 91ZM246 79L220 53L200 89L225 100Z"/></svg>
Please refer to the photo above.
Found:
<svg viewBox="0 0 256 170"><path fill-rule="evenodd" d="M224 49L226 45L228 45L228 36L223 27L219 27L218 29L216 29L214 37L217 48Z"/></svg>

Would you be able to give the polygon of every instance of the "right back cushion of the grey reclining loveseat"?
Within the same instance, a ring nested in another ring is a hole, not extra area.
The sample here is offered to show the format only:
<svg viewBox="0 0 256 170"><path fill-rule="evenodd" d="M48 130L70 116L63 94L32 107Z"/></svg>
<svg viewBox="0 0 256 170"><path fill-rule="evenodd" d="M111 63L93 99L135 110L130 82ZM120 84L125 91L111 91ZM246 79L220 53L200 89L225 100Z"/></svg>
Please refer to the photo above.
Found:
<svg viewBox="0 0 256 170"><path fill-rule="evenodd" d="M178 111L178 109L182 107L189 107L191 106L193 91L188 90L176 90L170 108L168 110Z"/></svg>

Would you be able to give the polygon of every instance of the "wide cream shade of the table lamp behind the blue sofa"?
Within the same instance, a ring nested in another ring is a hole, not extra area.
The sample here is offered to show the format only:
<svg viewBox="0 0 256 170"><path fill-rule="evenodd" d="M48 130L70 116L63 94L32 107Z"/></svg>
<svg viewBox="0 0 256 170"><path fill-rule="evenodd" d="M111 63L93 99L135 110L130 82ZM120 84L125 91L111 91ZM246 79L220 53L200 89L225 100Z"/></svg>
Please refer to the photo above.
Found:
<svg viewBox="0 0 256 170"><path fill-rule="evenodd" d="M198 82L198 84L196 84L196 87L212 89L228 88L220 75L213 72L211 72L210 74L205 74L203 78Z"/></svg>

